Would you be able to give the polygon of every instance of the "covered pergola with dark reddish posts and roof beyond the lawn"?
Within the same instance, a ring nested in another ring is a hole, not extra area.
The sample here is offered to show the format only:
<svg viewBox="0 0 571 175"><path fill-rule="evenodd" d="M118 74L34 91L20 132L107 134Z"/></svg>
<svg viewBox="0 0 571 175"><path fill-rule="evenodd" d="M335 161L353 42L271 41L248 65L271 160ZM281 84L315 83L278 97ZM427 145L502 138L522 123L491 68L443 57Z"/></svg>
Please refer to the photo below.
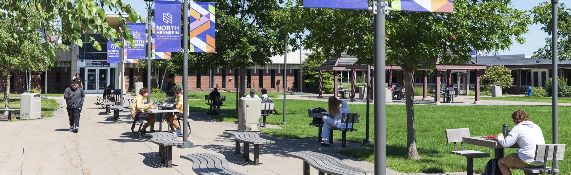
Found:
<svg viewBox="0 0 571 175"><path fill-rule="evenodd" d="M323 97L323 94L321 92L321 88L323 87L323 81L322 81L322 74L323 71L333 71L333 76L335 77L335 81L333 86L337 87L337 71L351 71L352 72L352 82L351 82L351 98L355 98L355 77L356 77L356 71L357 70L367 70L367 65L359 65L356 64L356 61L354 64L352 65L344 65L347 64L347 62L343 62L343 60L341 60L343 58L343 56L341 56L341 58L335 59L335 60L327 60L325 63L321 64L321 66L319 67L313 67L313 70L319 71L319 97ZM335 62L335 64L333 65L327 65L327 64L331 64L331 62ZM327 63L327 64L326 64ZM435 70L436 72L436 80L435 80L435 104L440 104L440 92L442 90L442 88L448 87L449 84L453 84L452 82L452 74L453 73L462 73L462 72L467 72L467 71L471 71L471 70L475 70L476 73L476 82L475 82L475 104L479 104L480 103L480 75L481 75L481 71L486 70L487 66L485 64L476 64L475 62L471 61L469 63L466 64L440 64L440 63L434 63L434 64L429 64L429 66L427 66L429 68L421 68L418 71L423 71L424 72L424 81L423 81L423 100L427 100L428 99L428 71L429 70ZM402 68L399 66L386 66L385 70L388 71L388 82L392 83L392 74L394 71L402 71ZM374 89L373 87L373 80L374 80L374 76L375 75L373 72L375 71L375 67L371 66L371 74L369 75L370 77L368 77L369 80L371 80L369 89ZM414 73L413 73L414 74ZM414 75L413 75L414 76ZM414 84L415 79L412 79L412 84ZM404 80L403 80L404 82ZM464 90L466 93L468 92L468 86L469 84L465 84L465 87L457 87L458 89ZM414 87L414 86L413 86ZM334 95L337 96L337 91L333 91ZM371 99L374 99L373 96L375 95L374 91L371 91Z"/></svg>

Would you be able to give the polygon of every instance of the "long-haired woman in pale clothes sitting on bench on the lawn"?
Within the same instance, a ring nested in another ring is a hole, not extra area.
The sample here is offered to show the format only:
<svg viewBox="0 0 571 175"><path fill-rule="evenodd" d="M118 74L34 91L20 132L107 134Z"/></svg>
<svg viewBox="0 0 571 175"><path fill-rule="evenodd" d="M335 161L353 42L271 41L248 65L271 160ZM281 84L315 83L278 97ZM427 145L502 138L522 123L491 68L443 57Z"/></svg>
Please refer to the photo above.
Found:
<svg viewBox="0 0 571 175"><path fill-rule="evenodd" d="M329 97L329 113L323 113L323 132L321 132L321 137L325 141L321 143L321 146L329 146L329 129L331 128L345 128L347 123L341 123L342 113L351 113L349 111L349 105L345 100L339 100L336 97ZM351 127L348 124L347 127Z"/></svg>

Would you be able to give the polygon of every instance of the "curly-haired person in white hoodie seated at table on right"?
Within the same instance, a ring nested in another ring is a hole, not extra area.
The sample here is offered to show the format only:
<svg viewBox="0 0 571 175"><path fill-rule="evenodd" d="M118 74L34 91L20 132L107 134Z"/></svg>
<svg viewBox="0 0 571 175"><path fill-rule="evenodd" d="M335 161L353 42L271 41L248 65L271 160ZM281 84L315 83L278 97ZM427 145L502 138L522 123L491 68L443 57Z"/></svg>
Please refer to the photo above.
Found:
<svg viewBox="0 0 571 175"><path fill-rule="evenodd" d="M541 128L534 124L528 114L521 109L512 113L512 119L515 126L509 135L504 137L500 133L497 136L498 143L506 148L516 143L520 145L517 153L509 154L498 161L498 166L504 175L512 175L510 171L512 167L539 168L543 165L543 161L534 160L536 145L545 144ZM525 174L531 173L525 172Z"/></svg>

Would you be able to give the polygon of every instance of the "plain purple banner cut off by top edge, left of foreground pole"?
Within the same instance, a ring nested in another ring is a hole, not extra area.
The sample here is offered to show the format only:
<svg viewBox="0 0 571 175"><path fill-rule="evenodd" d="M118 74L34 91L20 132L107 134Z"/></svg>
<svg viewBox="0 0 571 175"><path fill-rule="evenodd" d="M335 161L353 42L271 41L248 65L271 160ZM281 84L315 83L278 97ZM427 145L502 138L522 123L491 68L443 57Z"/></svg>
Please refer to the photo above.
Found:
<svg viewBox="0 0 571 175"><path fill-rule="evenodd" d="M369 10L369 2L367 0L303 0L303 7Z"/></svg>

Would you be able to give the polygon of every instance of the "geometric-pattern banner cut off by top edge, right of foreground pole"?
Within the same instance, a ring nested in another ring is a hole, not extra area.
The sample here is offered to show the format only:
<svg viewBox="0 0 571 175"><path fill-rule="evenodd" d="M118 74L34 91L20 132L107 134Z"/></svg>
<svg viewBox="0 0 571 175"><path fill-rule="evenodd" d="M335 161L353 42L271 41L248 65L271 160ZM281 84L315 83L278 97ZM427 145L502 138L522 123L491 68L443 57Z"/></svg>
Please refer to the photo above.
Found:
<svg viewBox="0 0 571 175"><path fill-rule="evenodd" d="M394 0L392 11L454 13L452 0Z"/></svg>

